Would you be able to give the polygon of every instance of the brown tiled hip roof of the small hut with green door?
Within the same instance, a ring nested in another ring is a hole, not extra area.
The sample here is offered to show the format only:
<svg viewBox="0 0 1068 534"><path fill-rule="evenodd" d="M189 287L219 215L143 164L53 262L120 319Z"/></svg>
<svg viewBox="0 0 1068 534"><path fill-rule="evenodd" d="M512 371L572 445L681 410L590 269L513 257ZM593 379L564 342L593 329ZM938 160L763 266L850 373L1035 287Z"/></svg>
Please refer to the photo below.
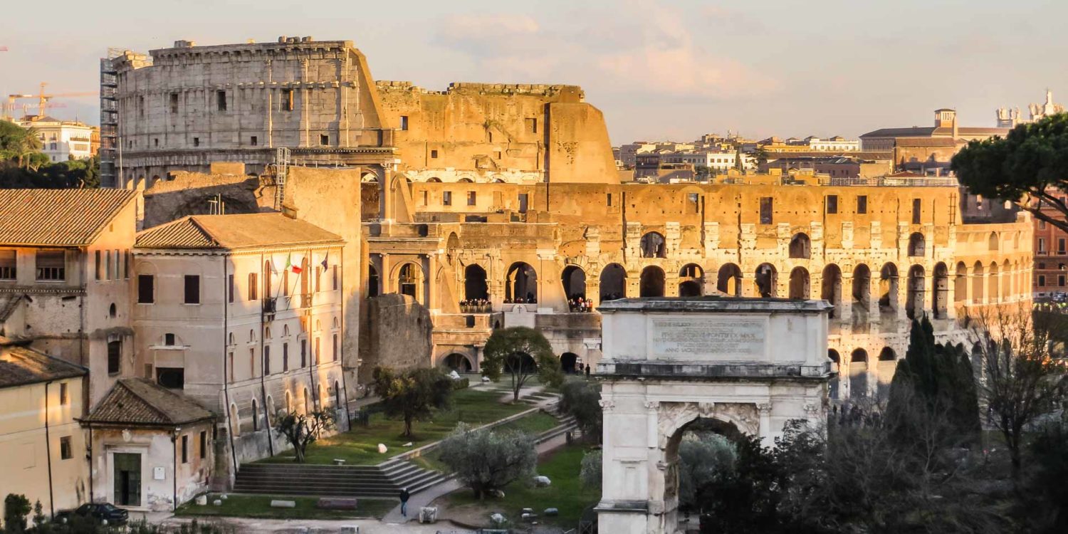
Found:
<svg viewBox="0 0 1068 534"><path fill-rule="evenodd" d="M214 419L215 414L180 393L143 378L120 378L92 412L87 423L127 425L184 425Z"/></svg>

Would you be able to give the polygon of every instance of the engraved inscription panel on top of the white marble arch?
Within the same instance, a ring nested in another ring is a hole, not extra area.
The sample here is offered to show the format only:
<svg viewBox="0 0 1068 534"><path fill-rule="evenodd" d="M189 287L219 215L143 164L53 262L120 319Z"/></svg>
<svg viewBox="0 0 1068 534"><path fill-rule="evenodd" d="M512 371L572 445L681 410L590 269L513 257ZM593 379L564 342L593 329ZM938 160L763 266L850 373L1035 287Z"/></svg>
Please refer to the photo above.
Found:
<svg viewBox="0 0 1068 534"><path fill-rule="evenodd" d="M763 360L763 317L664 317L650 320L655 359Z"/></svg>

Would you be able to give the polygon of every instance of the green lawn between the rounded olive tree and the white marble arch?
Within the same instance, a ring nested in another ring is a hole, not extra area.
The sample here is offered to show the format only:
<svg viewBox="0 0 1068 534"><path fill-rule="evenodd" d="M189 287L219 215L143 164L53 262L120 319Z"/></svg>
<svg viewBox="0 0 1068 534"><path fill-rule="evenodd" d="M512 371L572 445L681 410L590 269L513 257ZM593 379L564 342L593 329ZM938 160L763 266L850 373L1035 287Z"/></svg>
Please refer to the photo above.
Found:
<svg viewBox="0 0 1068 534"><path fill-rule="evenodd" d="M582 467L582 456L588 449L582 444L563 446L544 456L538 464L537 472L548 476L552 485L547 488L529 486L529 481L516 481L504 488L504 499L489 499L484 502L475 500L469 489L456 490L441 499L454 507L483 507L485 516L492 511L508 516L514 523L519 523L519 515L523 507L534 508L538 520L544 523L564 528L578 525L582 511L596 504L600 499L600 488L584 488L579 481ZM545 508L554 507L560 511L557 517L544 517Z"/></svg>

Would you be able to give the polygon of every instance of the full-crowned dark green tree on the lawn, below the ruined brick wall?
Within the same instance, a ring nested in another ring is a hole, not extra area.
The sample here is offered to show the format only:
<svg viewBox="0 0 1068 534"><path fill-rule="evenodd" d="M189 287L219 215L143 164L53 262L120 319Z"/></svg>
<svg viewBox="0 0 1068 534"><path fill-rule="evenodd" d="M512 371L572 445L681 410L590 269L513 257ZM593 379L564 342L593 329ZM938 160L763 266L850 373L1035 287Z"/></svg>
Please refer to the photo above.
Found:
<svg viewBox="0 0 1068 534"><path fill-rule="evenodd" d="M413 421L425 421L449 407L453 381L436 368L417 368L397 373L390 367L375 367L375 394L381 397L386 415L404 420L404 435L411 437Z"/></svg>

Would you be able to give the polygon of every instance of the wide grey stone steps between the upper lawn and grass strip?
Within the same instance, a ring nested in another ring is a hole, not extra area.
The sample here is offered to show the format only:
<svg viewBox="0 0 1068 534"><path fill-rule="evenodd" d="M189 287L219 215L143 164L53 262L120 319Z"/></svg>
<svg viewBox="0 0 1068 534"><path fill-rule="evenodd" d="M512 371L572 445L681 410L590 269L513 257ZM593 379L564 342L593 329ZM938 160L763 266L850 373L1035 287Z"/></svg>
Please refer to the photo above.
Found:
<svg viewBox="0 0 1068 534"><path fill-rule="evenodd" d="M245 464L234 492L324 497L396 497L400 488L418 493L446 478L407 460L377 466Z"/></svg>

